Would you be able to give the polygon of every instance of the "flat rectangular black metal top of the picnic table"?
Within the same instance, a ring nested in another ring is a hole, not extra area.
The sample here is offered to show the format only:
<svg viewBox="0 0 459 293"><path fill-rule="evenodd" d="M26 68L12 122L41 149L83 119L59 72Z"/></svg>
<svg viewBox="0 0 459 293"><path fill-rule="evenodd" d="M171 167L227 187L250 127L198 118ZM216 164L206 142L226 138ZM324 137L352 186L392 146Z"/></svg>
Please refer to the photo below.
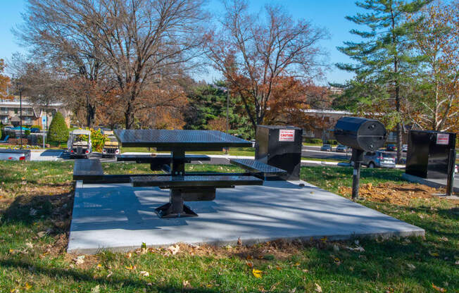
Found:
<svg viewBox="0 0 459 293"><path fill-rule="evenodd" d="M122 146L156 147L160 151L220 151L226 146L252 146L218 130L115 130Z"/></svg>

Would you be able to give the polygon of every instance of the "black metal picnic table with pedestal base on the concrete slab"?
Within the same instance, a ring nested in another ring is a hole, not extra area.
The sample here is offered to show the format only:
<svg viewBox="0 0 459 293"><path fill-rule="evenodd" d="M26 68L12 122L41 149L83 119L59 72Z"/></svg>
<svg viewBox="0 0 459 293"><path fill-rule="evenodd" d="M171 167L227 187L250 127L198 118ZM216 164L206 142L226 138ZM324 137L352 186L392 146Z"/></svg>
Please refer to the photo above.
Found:
<svg viewBox="0 0 459 293"><path fill-rule="evenodd" d="M158 165L170 164L171 168L162 168L167 170L168 174L130 178L134 187L151 186L170 189L168 204L156 208L156 213L161 218L197 216L183 202L213 200L216 188L263 185L263 178L253 173L185 173L185 163L196 160L196 156L187 156L185 152L221 151L222 148L230 146L252 146L251 142L244 139L217 130L115 130L115 135L125 147L156 147L157 151L171 152L170 156L158 155L157 158L146 155L118 157L118 161L151 163L151 170L159 170Z"/></svg>

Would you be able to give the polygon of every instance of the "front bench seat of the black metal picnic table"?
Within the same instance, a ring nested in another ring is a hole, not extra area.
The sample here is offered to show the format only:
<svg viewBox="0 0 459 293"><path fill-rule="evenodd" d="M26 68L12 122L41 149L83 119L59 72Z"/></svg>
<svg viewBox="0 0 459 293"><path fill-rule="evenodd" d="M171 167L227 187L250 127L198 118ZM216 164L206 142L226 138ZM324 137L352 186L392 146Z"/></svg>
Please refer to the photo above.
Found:
<svg viewBox="0 0 459 293"><path fill-rule="evenodd" d="M134 187L232 187L263 185L263 180L251 175L149 175L131 177Z"/></svg>

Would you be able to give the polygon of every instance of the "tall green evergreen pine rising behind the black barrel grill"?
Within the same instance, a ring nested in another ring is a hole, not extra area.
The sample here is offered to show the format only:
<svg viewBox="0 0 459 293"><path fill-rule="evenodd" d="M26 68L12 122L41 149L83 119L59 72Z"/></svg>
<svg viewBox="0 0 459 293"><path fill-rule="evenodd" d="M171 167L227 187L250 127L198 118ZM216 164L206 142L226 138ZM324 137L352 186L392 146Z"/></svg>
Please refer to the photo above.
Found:
<svg viewBox="0 0 459 293"><path fill-rule="evenodd" d="M368 30L351 30L351 34L363 38L362 42L344 42L339 51L351 57L356 64L337 63L337 67L356 73L353 87L362 90L363 99L394 101L390 109L383 110L396 125L397 161L401 158L401 86L410 76L419 57L412 56L413 28L415 23L406 21L432 0L365 0L356 5L367 13L347 16L356 25ZM385 103L387 104L387 103ZM390 105L390 104L389 104Z"/></svg>

